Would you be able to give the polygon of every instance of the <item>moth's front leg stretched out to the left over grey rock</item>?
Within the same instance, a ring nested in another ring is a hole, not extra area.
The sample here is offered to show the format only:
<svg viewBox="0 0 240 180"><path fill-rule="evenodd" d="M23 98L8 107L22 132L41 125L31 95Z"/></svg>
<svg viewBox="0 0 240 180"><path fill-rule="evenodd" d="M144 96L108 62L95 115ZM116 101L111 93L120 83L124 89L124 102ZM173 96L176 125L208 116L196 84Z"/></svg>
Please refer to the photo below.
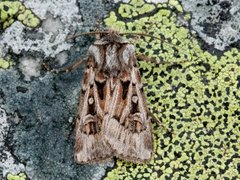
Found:
<svg viewBox="0 0 240 180"><path fill-rule="evenodd" d="M87 58L79 59L76 62L74 62L73 64L71 64L71 65L69 65L69 66L67 66L67 67L65 67L63 69L53 69L46 63L43 63L43 67L46 70L57 74L57 73L64 73L64 72L73 71L73 70L77 69L78 67L80 67L82 64L84 64L86 62L87 62Z"/></svg>

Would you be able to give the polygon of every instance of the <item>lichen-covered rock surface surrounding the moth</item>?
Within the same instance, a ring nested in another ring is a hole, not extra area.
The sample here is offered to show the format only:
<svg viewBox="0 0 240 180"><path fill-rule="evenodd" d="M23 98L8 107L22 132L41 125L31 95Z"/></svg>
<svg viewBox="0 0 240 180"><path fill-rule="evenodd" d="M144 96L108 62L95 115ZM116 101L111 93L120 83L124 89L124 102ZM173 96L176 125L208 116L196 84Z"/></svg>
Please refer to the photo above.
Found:
<svg viewBox="0 0 240 180"><path fill-rule="evenodd" d="M238 179L240 123L237 0L0 2L0 179ZM99 23L101 22L101 23ZM74 118L83 68L54 74L86 56L97 27L145 32L130 39L153 122L147 164L76 165Z"/></svg>

